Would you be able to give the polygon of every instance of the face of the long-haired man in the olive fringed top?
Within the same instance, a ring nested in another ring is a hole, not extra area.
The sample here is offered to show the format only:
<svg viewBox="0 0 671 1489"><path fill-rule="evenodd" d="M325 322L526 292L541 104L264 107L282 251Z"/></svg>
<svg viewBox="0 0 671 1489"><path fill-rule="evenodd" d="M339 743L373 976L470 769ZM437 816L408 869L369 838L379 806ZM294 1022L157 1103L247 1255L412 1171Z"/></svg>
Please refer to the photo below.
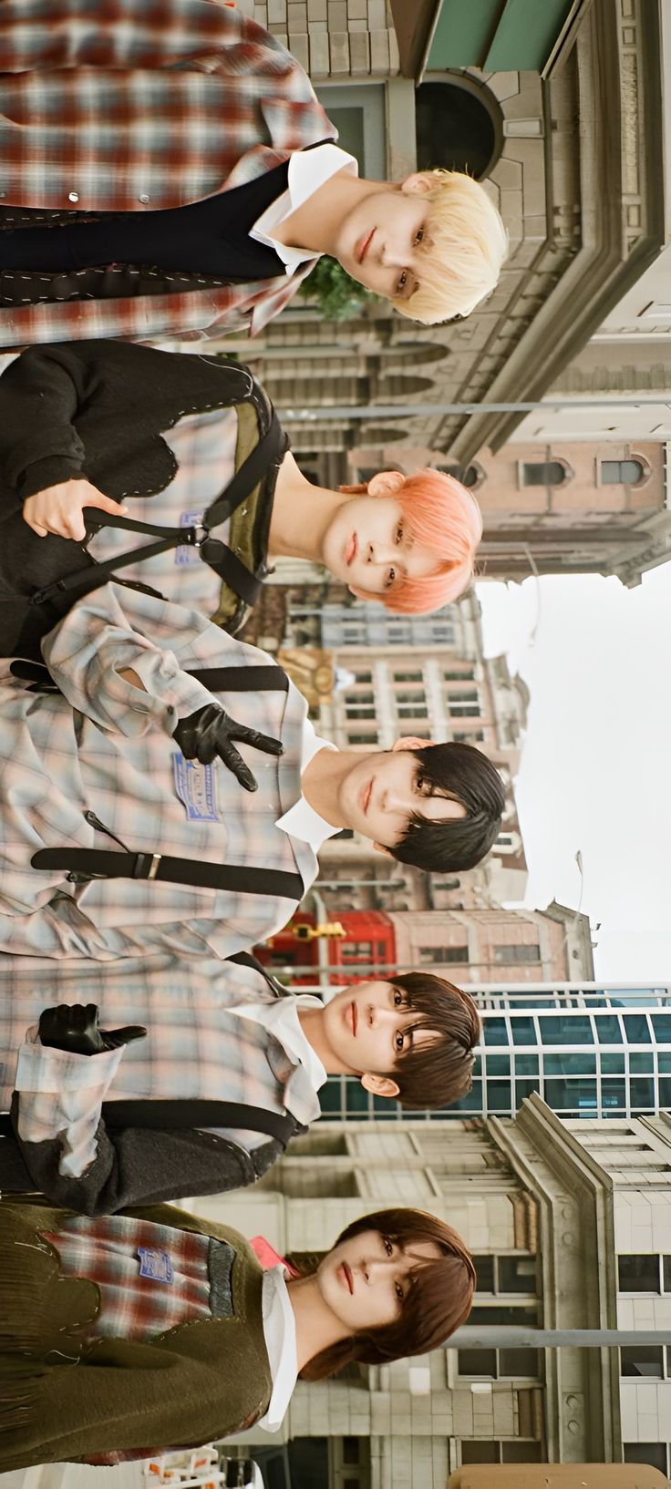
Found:
<svg viewBox="0 0 671 1489"><path fill-rule="evenodd" d="M362 1230L341 1240L319 1263L319 1291L352 1334L383 1328L403 1313L410 1273L423 1261L440 1257L435 1240L407 1240L401 1246L377 1230Z"/></svg>

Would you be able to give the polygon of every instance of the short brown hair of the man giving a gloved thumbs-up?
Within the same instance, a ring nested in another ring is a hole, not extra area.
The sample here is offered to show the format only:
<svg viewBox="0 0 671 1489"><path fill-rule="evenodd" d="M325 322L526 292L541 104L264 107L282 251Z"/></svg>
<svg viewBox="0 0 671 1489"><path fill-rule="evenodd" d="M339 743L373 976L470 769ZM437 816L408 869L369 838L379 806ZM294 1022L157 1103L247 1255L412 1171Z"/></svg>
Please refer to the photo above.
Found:
<svg viewBox="0 0 671 1489"><path fill-rule="evenodd" d="M450 1106L473 1085L473 1048L480 1039L480 1015L470 993L434 972L403 972L394 987L418 1014L410 1029L431 1029L437 1038L409 1044L389 1078L403 1106Z"/></svg>

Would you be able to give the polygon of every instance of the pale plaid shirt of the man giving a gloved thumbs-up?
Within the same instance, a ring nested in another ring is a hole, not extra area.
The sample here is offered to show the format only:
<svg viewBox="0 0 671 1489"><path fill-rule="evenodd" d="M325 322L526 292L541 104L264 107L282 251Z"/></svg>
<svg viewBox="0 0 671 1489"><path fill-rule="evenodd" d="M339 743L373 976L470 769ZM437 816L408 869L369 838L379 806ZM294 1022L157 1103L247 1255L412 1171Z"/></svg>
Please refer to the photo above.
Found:
<svg viewBox="0 0 671 1489"><path fill-rule="evenodd" d="M94 1002L103 1029L140 1023L148 1038L97 1056L45 1048L36 1026L42 1010L60 1002ZM0 1108L9 1108L16 1088L22 1141L60 1136L60 1172L69 1176L84 1173L95 1155L107 1097L245 1102L291 1111L307 1126L319 1117L327 1072L297 1010L319 1007L306 993L280 998L261 972L236 962L203 959L186 968L167 953L94 963L12 957L0 969ZM248 1151L265 1141L262 1133L216 1130Z"/></svg>

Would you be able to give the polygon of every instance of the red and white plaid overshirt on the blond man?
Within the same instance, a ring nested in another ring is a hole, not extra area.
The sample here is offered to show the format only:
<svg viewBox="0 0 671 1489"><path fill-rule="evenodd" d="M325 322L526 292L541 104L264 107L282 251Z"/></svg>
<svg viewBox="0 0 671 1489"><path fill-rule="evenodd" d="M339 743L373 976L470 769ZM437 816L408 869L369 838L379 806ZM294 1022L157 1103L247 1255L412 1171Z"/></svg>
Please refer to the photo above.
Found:
<svg viewBox="0 0 671 1489"><path fill-rule="evenodd" d="M0 204L158 211L337 138L283 46L221 0L3 0ZM0 345L259 332L294 275L0 311Z"/></svg>

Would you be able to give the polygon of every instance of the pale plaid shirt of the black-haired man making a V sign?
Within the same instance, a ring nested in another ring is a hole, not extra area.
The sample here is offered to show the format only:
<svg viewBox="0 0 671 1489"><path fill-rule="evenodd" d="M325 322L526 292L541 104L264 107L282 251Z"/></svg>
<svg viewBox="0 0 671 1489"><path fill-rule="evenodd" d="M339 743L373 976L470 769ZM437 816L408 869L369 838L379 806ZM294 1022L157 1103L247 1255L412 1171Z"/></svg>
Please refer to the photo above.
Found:
<svg viewBox="0 0 671 1489"><path fill-rule="evenodd" d="M249 794L218 761L186 773L171 734L213 697L183 669L267 666L262 652L194 610L115 584L75 605L43 652L61 694L0 683L0 950L227 957L286 925L291 898L133 879L73 887L64 870L30 859L49 846L115 847L86 819L92 810L130 852L298 871L309 887L318 843L276 825L301 797L304 740L315 739L301 694L291 683L215 694L233 718L282 739L279 759L242 746L259 786ZM316 825L321 841L336 831Z"/></svg>

